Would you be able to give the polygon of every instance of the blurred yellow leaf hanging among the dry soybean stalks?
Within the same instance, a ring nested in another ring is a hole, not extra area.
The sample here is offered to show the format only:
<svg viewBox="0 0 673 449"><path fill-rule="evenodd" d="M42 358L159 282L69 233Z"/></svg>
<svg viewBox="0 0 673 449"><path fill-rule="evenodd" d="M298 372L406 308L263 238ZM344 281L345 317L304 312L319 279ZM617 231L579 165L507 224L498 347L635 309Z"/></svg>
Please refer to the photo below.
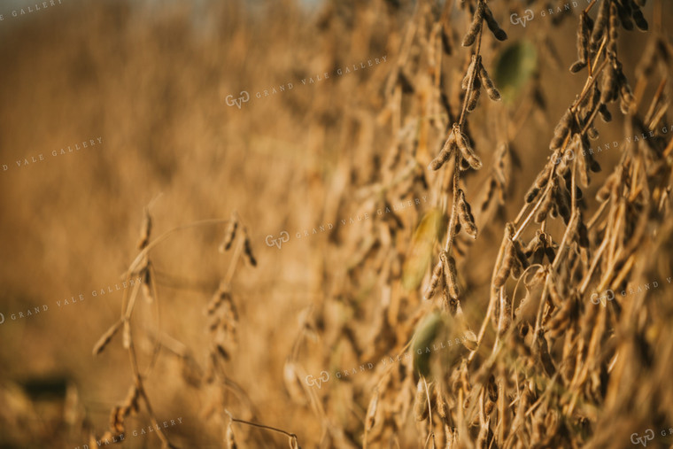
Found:
<svg viewBox="0 0 673 449"><path fill-rule="evenodd" d="M416 290L421 285L432 259L432 248L445 235L447 224L447 217L440 209L430 209L423 216L402 268L402 286L406 290Z"/></svg>

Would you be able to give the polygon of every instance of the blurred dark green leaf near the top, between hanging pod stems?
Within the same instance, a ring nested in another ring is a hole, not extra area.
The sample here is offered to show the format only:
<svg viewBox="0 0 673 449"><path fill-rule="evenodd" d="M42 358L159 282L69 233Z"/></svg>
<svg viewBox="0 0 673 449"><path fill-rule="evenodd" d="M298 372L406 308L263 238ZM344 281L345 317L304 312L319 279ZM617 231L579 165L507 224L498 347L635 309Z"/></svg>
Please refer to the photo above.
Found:
<svg viewBox="0 0 673 449"><path fill-rule="evenodd" d="M493 77L505 103L514 103L537 70L538 52L529 41L512 43L499 54Z"/></svg>

